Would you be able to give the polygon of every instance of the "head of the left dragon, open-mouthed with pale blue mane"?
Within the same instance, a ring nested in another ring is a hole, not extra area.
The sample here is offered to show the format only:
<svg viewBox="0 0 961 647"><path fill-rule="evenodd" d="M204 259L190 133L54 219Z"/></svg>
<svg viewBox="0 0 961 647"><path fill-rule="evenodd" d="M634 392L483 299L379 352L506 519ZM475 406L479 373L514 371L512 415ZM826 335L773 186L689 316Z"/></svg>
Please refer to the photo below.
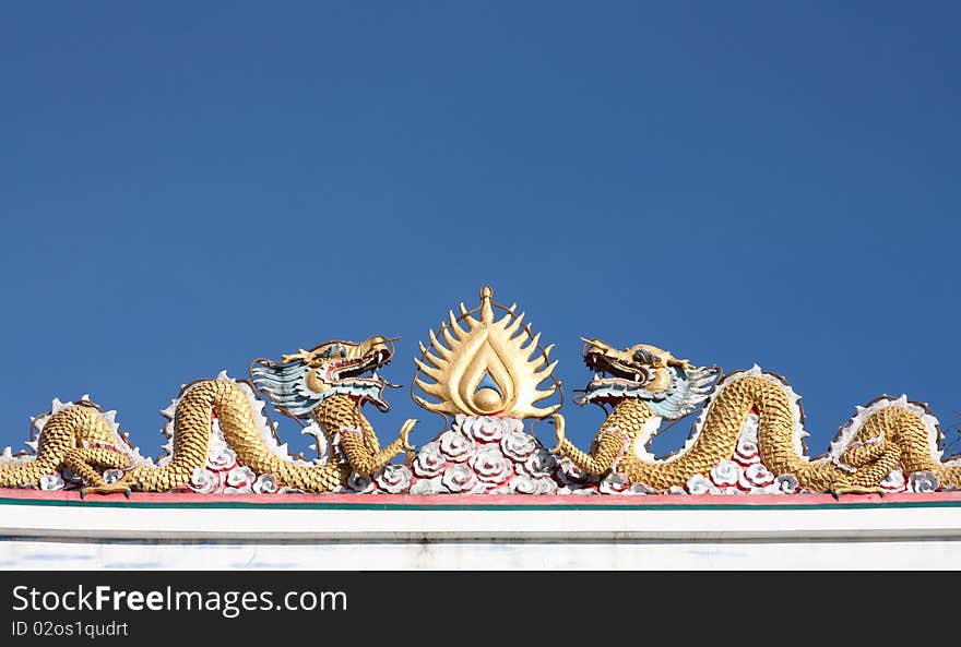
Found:
<svg viewBox="0 0 961 647"><path fill-rule="evenodd" d="M280 362L256 359L250 363L250 378L257 388L270 397L274 406L295 418L307 418L324 399L346 395L373 403L387 411L384 386L392 386L377 374L390 362L393 339L375 335L354 342L328 342L310 350L284 355ZM369 375L368 375L369 373Z"/></svg>

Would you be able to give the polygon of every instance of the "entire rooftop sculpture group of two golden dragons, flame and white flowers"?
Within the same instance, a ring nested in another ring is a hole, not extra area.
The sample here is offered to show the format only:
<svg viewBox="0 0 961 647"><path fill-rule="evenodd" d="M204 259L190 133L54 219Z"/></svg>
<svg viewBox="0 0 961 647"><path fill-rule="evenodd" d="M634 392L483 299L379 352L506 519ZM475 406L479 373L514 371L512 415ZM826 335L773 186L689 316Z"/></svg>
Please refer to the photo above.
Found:
<svg viewBox="0 0 961 647"><path fill-rule="evenodd" d="M428 334L414 359L414 402L446 420L415 451L406 420L381 447L365 405L387 411L378 374L393 339L332 340L258 359L250 380L222 373L186 385L165 409L166 454L141 455L112 411L84 397L54 402L36 417L31 452L0 457L0 487L63 489L81 495L131 491L384 494L740 494L932 491L961 487L961 460L941 457L926 406L882 396L842 426L827 454L808 456L799 397L780 375L755 367L722 374L645 344L619 349L582 339L595 373L576 398L610 408L586 452L566 434L551 346L515 305L480 290ZM559 402L549 403L551 399ZM545 404L547 400L547 404ZM318 457L290 455L265 402L315 436ZM666 422L697 414L685 445L650 452ZM553 448L533 422L555 426ZM531 428L527 424L531 424ZM401 460L403 458L403 460Z"/></svg>

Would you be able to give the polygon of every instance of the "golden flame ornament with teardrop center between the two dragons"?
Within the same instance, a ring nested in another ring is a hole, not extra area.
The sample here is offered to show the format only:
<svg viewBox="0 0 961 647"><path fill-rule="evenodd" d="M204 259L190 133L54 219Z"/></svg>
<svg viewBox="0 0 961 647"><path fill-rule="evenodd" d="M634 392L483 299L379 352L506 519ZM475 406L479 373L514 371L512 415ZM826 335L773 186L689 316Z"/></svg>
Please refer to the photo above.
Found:
<svg viewBox="0 0 961 647"><path fill-rule="evenodd" d="M437 398L431 403L413 393L414 402L428 411L456 416L498 416L543 418L554 414L560 404L536 407L536 403L558 391L560 381L554 376L557 361L549 362L550 349L532 334L524 314L515 314L517 304L505 308L495 303L489 286L480 288L480 305L461 314L449 313L450 323L440 324L440 338L429 332L430 346L420 344L420 359L414 386ZM494 310L507 314L495 321ZM479 313L479 319L474 315ZM443 340L441 343L441 339ZM538 388L545 380L553 384Z"/></svg>

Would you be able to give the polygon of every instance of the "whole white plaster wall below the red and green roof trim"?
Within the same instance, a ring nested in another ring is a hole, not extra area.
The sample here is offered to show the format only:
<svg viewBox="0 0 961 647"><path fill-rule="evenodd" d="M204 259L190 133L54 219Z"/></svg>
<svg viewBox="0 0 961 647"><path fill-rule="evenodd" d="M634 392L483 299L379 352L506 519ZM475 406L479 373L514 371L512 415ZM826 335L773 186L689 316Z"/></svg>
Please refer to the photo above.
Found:
<svg viewBox="0 0 961 647"><path fill-rule="evenodd" d="M0 568L961 568L961 507L0 505Z"/></svg>

